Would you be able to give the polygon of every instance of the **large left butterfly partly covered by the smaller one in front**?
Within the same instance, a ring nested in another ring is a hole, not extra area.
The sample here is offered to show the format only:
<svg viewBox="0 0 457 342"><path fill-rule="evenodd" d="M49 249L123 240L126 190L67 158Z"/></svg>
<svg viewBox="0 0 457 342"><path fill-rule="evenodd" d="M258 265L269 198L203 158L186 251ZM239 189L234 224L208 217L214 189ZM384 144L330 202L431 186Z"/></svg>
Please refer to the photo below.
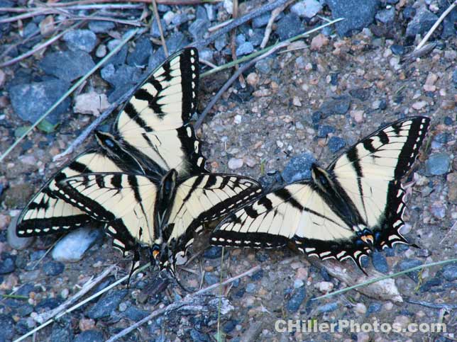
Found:
<svg viewBox="0 0 457 342"><path fill-rule="evenodd" d="M92 220L56 195L57 183L71 176L121 171L157 175L161 168L175 168L182 176L207 172L199 139L189 125L197 109L198 88L197 50L170 56L138 86L111 133L95 132L98 148L79 154L33 196L18 218L16 234L65 232Z"/></svg>

